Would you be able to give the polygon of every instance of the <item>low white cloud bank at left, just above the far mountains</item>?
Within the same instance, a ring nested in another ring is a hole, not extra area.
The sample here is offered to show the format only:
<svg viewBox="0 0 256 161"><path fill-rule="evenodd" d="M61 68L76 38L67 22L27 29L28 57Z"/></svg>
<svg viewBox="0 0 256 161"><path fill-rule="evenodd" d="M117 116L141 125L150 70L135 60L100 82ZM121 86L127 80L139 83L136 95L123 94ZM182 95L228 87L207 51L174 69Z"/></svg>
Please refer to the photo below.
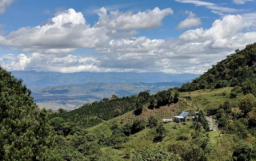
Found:
<svg viewBox="0 0 256 161"><path fill-rule="evenodd" d="M18 56L6 55L5 59L11 61L7 64L6 61L1 62L1 66L8 70L36 70L36 71L51 71L62 73L74 73L82 71L98 72L97 66L94 65L97 60L93 57L81 57L66 55L65 57L55 57L48 54L33 53L26 56L21 53Z"/></svg>

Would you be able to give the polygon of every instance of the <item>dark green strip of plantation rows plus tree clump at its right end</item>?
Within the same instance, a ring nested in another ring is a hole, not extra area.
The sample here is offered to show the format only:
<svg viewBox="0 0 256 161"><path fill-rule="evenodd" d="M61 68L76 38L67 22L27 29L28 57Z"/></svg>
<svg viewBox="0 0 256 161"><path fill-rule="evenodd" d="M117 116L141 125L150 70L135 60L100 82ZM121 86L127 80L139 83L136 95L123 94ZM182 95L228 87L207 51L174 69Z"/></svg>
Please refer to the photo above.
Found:
<svg viewBox="0 0 256 161"><path fill-rule="evenodd" d="M138 96L133 95L122 98L112 95L110 99L104 98L99 102L94 101L92 104L84 104L71 112L54 112L50 117L60 117L63 120L72 121L83 128L90 128L102 121L113 119L132 110L135 110L135 115L139 115L144 106L159 108L162 105L172 104L174 98L171 91L172 88L168 91L164 90L150 96L150 91L148 90L140 92Z"/></svg>

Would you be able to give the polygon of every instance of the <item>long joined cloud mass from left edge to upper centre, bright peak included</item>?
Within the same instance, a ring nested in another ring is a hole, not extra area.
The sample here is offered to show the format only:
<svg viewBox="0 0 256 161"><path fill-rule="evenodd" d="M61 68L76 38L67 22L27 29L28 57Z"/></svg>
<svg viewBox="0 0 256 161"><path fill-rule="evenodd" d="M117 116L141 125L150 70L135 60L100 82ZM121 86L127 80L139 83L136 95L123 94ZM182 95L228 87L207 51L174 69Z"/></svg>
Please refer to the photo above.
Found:
<svg viewBox="0 0 256 161"><path fill-rule="evenodd" d="M134 29L161 26L162 18L172 13L170 8L155 8L137 14L120 13L118 10L107 14L106 9L102 8L98 23L91 27L82 13L73 9L64 10L42 26L23 27L6 37L0 36L0 45L14 46L22 52L38 53L67 54L78 48L94 49L116 37L131 37L138 33Z"/></svg>

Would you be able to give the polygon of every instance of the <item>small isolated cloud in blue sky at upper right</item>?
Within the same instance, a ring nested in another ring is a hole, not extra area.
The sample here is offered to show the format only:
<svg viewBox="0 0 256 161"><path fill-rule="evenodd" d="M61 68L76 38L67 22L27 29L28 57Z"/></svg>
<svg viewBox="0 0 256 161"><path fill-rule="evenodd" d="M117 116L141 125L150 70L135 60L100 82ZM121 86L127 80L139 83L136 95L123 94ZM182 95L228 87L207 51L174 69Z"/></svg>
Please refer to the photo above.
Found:
<svg viewBox="0 0 256 161"><path fill-rule="evenodd" d="M201 19L193 12L186 12L186 14L189 14L188 18L180 22L177 29L187 29L194 26L200 26L202 24Z"/></svg>

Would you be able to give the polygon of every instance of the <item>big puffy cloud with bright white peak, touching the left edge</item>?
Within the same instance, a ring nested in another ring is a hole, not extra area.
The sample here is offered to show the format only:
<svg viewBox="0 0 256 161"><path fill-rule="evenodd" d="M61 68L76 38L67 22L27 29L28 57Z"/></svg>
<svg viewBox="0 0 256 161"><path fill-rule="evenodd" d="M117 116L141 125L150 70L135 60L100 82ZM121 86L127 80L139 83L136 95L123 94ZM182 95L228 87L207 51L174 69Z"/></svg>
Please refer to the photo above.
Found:
<svg viewBox="0 0 256 161"><path fill-rule="evenodd" d="M70 9L51 18L44 26L23 27L0 37L0 44L22 51L62 53L79 47L93 48L107 40L106 29L91 28L82 13Z"/></svg>

